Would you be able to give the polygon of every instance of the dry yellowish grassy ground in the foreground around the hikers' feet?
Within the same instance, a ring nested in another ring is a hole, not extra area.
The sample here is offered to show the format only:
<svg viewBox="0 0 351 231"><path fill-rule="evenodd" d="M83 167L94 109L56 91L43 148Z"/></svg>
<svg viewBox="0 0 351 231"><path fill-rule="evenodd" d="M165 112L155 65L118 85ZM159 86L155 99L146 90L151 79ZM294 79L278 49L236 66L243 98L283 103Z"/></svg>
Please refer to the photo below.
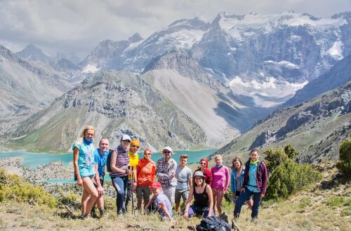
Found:
<svg viewBox="0 0 351 231"><path fill-rule="evenodd" d="M256 223L250 222L251 211L244 207L237 225L241 230L350 230L350 183L340 183L336 169L323 167L324 180L287 201L264 202ZM107 204L114 204L110 199ZM224 204L232 218L233 204ZM18 202L1 202L0 229L4 230L187 230L199 219L186 222L181 217L171 224L156 216L137 214L115 216L114 209L100 220L88 218L80 221L78 210L48 209ZM172 228L172 225L174 226Z"/></svg>

